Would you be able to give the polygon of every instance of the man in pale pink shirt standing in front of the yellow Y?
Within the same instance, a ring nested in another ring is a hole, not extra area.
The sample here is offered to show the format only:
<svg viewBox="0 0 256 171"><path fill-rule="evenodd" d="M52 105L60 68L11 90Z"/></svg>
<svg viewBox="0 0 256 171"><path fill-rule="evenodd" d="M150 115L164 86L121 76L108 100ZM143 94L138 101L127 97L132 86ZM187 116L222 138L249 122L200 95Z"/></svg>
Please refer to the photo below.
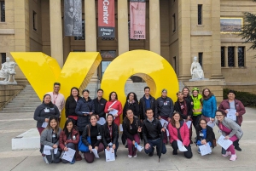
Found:
<svg viewBox="0 0 256 171"><path fill-rule="evenodd" d="M51 96L51 102L58 107L61 114L61 111L64 109L65 106L65 98L64 95L60 93L60 89L61 83L54 83L54 90L52 92L48 92L47 94Z"/></svg>

